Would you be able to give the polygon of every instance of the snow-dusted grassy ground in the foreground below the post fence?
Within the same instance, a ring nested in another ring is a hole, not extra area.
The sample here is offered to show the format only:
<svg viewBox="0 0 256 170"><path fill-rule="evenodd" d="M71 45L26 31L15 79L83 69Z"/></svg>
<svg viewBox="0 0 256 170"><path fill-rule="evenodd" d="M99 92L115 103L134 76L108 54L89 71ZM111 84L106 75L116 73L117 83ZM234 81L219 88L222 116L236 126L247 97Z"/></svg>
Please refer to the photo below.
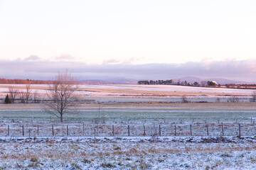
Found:
<svg viewBox="0 0 256 170"><path fill-rule="evenodd" d="M255 140L1 137L0 169L256 169Z"/></svg>

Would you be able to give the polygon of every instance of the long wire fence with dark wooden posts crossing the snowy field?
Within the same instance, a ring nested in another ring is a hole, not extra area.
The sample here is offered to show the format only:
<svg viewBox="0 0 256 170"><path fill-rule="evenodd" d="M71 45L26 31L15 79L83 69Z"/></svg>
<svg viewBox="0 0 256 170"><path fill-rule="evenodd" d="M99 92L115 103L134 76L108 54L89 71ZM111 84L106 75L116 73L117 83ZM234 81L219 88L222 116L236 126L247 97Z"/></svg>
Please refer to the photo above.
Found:
<svg viewBox="0 0 256 170"><path fill-rule="evenodd" d="M1 123L0 137L123 137L123 136L254 136L250 123L161 123L161 124L93 124L93 123Z"/></svg>

